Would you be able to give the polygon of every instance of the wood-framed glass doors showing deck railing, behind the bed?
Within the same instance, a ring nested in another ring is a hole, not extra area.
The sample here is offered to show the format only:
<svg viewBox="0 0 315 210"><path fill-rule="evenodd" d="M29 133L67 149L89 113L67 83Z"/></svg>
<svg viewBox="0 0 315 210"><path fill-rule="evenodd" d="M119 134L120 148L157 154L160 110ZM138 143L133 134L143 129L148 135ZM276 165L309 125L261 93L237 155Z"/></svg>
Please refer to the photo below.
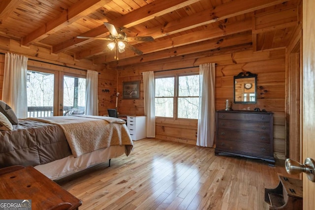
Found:
<svg viewBox="0 0 315 210"><path fill-rule="evenodd" d="M85 75L31 68L27 71L28 117L84 114Z"/></svg>

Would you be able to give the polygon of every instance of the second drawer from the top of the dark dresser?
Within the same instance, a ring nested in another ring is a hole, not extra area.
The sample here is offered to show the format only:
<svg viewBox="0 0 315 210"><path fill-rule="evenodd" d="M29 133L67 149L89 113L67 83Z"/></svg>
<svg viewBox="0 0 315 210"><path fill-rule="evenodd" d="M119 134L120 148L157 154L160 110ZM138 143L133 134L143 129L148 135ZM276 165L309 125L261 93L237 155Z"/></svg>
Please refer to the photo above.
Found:
<svg viewBox="0 0 315 210"><path fill-rule="evenodd" d="M247 121L247 120L223 120L220 119L218 122L219 128L233 128L240 130L254 130L260 132L268 132L269 133L269 122L263 121Z"/></svg>

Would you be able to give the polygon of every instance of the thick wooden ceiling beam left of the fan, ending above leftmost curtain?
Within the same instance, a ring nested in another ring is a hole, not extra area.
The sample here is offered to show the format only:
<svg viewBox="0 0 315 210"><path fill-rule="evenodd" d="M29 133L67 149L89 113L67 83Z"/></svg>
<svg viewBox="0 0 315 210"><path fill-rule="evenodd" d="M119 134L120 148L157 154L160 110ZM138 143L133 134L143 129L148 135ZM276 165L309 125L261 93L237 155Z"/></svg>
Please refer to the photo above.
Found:
<svg viewBox="0 0 315 210"><path fill-rule="evenodd" d="M39 27L38 29L32 31L30 34L26 35L21 43L22 45L30 45L32 43L38 42L50 34L63 29L67 25L77 21L78 19L90 14L99 7L105 5L112 0L88 0L79 1L73 6L64 10L58 17L47 22L45 25Z"/></svg>

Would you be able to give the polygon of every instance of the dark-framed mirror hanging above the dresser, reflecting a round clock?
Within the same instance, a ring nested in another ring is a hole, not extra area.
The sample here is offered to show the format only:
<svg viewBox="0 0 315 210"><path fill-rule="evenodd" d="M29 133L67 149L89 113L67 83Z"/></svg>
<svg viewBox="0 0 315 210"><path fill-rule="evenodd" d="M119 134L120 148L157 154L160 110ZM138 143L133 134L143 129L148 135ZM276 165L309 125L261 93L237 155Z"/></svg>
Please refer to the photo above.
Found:
<svg viewBox="0 0 315 210"><path fill-rule="evenodd" d="M234 76L234 103L255 104L257 101L257 74L241 72Z"/></svg>

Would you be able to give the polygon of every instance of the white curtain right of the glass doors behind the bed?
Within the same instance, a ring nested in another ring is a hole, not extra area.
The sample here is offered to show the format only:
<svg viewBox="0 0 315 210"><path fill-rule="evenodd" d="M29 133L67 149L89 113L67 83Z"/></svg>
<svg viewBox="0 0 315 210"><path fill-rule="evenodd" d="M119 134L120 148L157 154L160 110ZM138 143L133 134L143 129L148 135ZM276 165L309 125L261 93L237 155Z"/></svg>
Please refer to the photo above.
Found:
<svg viewBox="0 0 315 210"><path fill-rule="evenodd" d="M98 72L88 70L85 92L85 114L98 115L97 84Z"/></svg>

